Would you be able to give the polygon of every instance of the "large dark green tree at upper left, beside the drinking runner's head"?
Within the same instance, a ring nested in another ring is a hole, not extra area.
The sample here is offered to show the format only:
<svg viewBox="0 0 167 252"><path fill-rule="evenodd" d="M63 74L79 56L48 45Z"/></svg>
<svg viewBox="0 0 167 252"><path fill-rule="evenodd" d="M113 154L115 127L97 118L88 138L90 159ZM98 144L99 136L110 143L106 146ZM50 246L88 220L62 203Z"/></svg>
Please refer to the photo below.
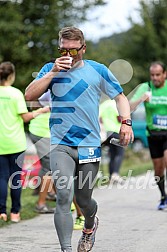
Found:
<svg viewBox="0 0 167 252"><path fill-rule="evenodd" d="M16 86L24 90L33 72L57 57L58 31L86 19L92 6L104 0L1 0L0 61L16 65ZM6 11L7 10L7 11Z"/></svg>

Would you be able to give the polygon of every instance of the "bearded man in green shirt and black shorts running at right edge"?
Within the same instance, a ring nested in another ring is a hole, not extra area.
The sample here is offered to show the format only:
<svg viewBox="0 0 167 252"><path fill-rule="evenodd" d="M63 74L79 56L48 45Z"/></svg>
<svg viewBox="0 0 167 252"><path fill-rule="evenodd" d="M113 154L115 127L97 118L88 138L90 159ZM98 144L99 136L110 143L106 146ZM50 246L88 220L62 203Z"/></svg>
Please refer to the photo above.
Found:
<svg viewBox="0 0 167 252"><path fill-rule="evenodd" d="M167 167L167 80L164 63L152 62L149 68L150 81L142 83L130 98L131 111L144 102L146 134L154 175L160 190L158 210L167 207L164 169Z"/></svg>

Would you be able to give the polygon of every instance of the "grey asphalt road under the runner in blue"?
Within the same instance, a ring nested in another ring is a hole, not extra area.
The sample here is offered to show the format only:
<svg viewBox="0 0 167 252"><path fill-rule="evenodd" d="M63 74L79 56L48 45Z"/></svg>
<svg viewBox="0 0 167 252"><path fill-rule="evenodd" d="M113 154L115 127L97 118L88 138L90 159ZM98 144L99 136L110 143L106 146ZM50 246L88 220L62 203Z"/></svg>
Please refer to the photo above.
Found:
<svg viewBox="0 0 167 252"><path fill-rule="evenodd" d="M167 210L156 210L160 194L151 181L149 173L119 188L95 189L100 222L92 252L167 251ZM73 232L73 251L80 235L81 231ZM53 214L1 228L0 252L15 251L60 252Z"/></svg>

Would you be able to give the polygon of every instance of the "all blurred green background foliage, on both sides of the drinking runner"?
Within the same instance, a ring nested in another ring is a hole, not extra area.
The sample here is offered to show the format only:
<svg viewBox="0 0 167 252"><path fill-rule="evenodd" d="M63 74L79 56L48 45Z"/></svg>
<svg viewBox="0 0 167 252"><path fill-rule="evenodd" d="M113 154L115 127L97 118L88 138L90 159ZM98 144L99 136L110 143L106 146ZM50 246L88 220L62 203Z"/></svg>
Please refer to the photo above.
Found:
<svg viewBox="0 0 167 252"><path fill-rule="evenodd" d="M33 80L33 72L58 56L58 31L86 19L86 13L103 0L13 0L0 1L0 61L16 65L16 86L21 90ZM133 78L124 85L125 94L149 79L151 61L167 62L167 0L140 0L142 22L131 29L98 43L87 42L86 58L105 64L116 59L127 60L133 67ZM8 10L8 11L6 11ZM120 69L121 71L121 69Z"/></svg>

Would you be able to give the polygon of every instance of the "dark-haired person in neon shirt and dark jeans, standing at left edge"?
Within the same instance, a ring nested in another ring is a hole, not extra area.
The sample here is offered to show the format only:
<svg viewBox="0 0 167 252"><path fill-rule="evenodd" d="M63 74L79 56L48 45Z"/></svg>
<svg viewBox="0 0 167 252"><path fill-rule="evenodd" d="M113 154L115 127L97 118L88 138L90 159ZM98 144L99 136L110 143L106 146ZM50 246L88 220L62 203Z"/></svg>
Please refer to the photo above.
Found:
<svg viewBox="0 0 167 252"><path fill-rule="evenodd" d="M10 220L20 221L21 171L26 149L24 122L28 122L48 108L28 112L24 96L12 87L15 66L11 62L0 64L0 219L7 221L6 200L10 183Z"/></svg>

